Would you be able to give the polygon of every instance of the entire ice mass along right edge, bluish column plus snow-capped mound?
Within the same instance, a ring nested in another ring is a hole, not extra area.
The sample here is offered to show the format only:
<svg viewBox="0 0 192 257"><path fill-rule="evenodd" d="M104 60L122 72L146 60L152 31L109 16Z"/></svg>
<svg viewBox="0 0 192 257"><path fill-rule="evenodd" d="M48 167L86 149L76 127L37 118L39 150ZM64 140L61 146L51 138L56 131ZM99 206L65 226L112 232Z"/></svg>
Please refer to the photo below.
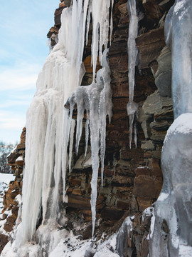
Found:
<svg viewBox="0 0 192 257"><path fill-rule="evenodd" d="M161 154L164 185L154 208L150 256L192 256L192 6L176 0L166 16L172 54L174 123Z"/></svg>

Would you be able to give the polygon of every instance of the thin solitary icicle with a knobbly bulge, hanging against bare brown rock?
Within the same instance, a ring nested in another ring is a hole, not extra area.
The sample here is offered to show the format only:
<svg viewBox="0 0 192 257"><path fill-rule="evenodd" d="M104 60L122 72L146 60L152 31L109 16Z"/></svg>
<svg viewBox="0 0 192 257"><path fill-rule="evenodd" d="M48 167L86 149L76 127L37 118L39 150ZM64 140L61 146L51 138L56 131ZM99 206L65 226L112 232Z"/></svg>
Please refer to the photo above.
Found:
<svg viewBox="0 0 192 257"><path fill-rule="evenodd" d="M138 21L136 10L136 0L128 0L127 9L129 13L129 38L128 38L128 69L129 69L129 102L127 104L127 114L129 116L129 148L132 147L132 127L134 124L134 116L137 115L138 106L134 103L134 74L137 63L137 46L135 39L138 34ZM137 129L134 124L134 143L137 147Z"/></svg>

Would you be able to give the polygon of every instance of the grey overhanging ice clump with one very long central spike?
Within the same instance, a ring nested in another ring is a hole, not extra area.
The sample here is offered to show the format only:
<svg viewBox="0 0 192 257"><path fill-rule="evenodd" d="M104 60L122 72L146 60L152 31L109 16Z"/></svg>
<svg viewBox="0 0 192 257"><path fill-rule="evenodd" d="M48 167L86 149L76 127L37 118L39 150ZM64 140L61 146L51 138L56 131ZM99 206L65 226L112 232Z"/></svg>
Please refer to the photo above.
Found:
<svg viewBox="0 0 192 257"><path fill-rule="evenodd" d="M110 88L110 67L107 64L107 52L105 49L102 56L102 69L97 71L96 83L92 81L90 86L80 86L73 92L66 106L70 109L70 119L75 104L78 109L76 129L76 153L82 135L82 119L86 111L87 119L85 125L85 157L87 153L87 142L90 129L91 158L92 158L92 180L91 180L91 210L92 210L92 236L95 228L96 201L97 201L97 178L101 159L101 176L103 182L104 158L105 158L105 130L106 116L112 117L112 92ZM99 157L100 154L100 157Z"/></svg>

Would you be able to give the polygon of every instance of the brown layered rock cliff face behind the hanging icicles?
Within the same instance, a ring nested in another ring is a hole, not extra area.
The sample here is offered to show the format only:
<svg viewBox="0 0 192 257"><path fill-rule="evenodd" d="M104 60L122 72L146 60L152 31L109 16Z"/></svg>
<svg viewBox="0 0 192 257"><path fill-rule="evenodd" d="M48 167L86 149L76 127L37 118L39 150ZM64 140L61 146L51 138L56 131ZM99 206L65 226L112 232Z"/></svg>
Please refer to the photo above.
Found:
<svg viewBox="0 0 192 257"><path fill-rule="evenodd" d="M59 9L55 11L55 26L48 33L51 46L56 43L55 35L58 34L60 28L61 11L69 4L70 1L61 1ZM100 238L103 232L110 235L119 229L124 218L134 216L132 231L127 234L129 240L124 238L122 246L126 250L121 252L121 256L144 257L149 252L147 235L151 214L142 218L142 212L156 201L161 191L161 148L166 131L173 121L172 103L171 99L167 97L170 96L169 89L164 94L162 92L165 89L159 86L158 91L156 84L161 85L161 76L164 76L166 71L170 73L168 64L170 54L164 49L164 18L174 1L138 0L137 4L142 13L139 21L139 36L136 39L139 49L139 69L136 71L134 89L134 101L139 104L138 148L134 148L132 145L132 149L129 149L129 121L126 109L129 100L127 0L117 0L114 1L114 30L109 51L113 116L111 124L107 124L103 187L100 174L98 178L95 236ZM82 82L84 85L90 84L92 81L90 46L89 39L83 58L86 69ZM164 63L168 67L166 70ZM100 69L99 64L97 69ZM164 76L164 80L166 80L166 76ZM167 87L169 88L169 85ZM24 129L21 134L21 143L17 146L16 152L9 157L9 164L15 171L16 181L10 185L10 189L6 193L5 209L18 208L14 203L14 198L17 193L21 193L23 161L18 157L24 158L25 133ZM82 157L85 149L85 124L83 133L78 156L75 156L74 146L73 168L67 174L68 203L64 203L63 208L66 209L68 217L65 226L73 230L75 235L82 234L82 238L89 238L91 236L90 180L92 168L90 159L87 157L87 160L84 160ZM12 224L14 224L15 218L16 216L14 216ZM86 228L77 228L75 226L77 222L86 223ZM11 226L7 224L4 229L10 231Z"/></svg>

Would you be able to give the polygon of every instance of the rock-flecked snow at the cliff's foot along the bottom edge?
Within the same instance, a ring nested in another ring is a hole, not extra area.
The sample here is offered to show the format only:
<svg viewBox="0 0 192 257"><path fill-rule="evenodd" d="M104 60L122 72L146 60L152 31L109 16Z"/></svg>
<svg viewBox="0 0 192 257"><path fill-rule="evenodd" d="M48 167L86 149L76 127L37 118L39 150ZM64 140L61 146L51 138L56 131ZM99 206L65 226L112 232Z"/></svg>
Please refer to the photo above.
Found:
<svg viewBox="0 0 192 257"><path fill-rule="evenodd" d="M15 242L12 246L11 242L9 242L2 251L1 257L28 256L28 254L30 254L31 257L38 257L40 256L40 252L41 254L43 253L43 249L47 250L48 256L50 257L119 257L119 255L115 252L117 236L115 233L104 242L100 240L100 243L96 245L94 241L82 240L80 236L74 236L71 231L66 231L65 229L62 231L55 231L54 229L51 231L49 229L49 233L47 230L48 226L44 226L44 236L47 237L46 240L52 238L52 242L55 241L54 246L39 246L35 242L31 242L26 243L19 250L17 250ZM50 238L48 238L48 234L51 234ZM49 245L50 241L47 242ZM48 248L50 249L48 250Z"/></svg>

